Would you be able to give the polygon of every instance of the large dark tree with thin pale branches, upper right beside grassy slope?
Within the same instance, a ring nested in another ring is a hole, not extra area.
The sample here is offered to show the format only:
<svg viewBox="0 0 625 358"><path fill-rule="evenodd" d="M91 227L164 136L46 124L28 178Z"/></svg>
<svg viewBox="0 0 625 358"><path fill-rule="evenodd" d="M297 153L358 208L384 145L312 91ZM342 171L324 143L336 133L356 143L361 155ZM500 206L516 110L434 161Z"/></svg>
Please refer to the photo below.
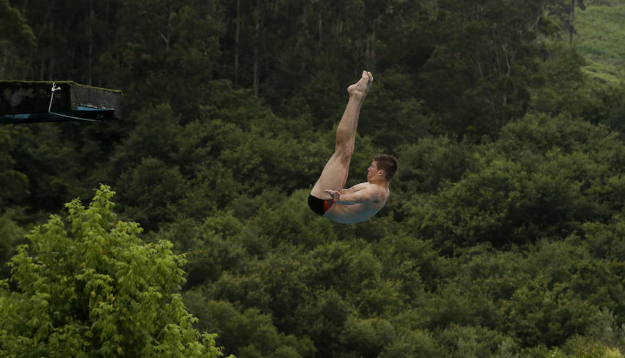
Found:
<svg viewBox="0 0 625 358"><path fill-rule="evenodd" d="M545 1L440 3L436 46L422 69L422 95L439 113L440 132L496 135L522 117L542 49Z"/></svg>

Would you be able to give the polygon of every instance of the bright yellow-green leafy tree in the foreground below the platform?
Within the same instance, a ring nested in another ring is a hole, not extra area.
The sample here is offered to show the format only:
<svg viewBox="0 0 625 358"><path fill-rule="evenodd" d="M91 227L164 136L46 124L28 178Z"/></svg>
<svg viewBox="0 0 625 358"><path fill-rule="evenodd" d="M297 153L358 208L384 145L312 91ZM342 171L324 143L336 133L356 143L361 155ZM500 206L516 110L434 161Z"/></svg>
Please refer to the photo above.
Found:
<svg viewBox="0 0 625 358"><path fill-rule="evenodd" d="M67 203L67 220L52 215L19 246L9 263L17 291L0 282L3 357L222 356L173 293L183 255L116 221L114 194L102 185L88 208Z"/></svg>

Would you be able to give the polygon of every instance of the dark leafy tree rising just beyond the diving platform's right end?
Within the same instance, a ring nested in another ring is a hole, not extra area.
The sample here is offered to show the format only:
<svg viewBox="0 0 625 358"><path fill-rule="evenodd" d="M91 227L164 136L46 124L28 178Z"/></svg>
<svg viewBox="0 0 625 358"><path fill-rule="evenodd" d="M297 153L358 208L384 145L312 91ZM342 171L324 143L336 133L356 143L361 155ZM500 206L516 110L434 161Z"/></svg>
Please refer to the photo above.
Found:
<svg viewBox="0 0 625 358"><path fill-rule="evenodd" d="M108 61L126 103L170 103L193 118L218 69L222 16L217 0L122 1Z"/></svg>

